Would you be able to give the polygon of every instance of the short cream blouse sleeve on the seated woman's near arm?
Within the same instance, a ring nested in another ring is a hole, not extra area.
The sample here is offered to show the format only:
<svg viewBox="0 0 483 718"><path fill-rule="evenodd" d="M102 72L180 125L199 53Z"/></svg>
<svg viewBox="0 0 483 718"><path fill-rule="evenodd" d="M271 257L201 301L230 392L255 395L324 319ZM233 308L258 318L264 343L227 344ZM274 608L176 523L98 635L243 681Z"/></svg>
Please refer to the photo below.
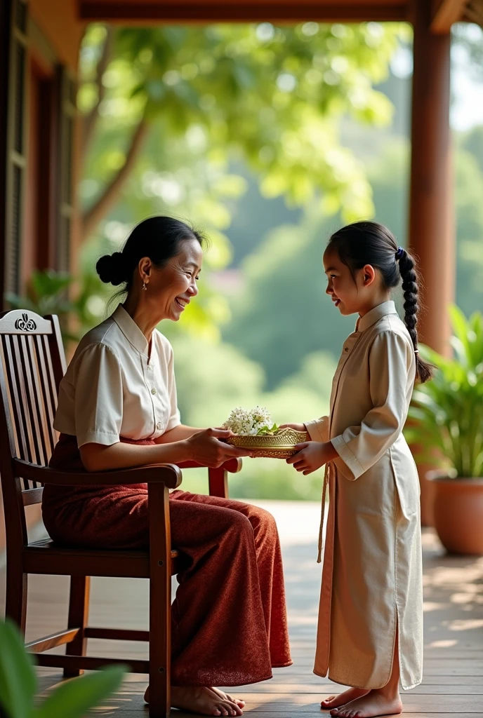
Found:
<svg viewBox="0 0 483 718"><path fill-rule="evenodd" d="M119 359L105 344L91 344L80 354L74 375L75 435L83 444L119 442L123 382Z"/></svg>

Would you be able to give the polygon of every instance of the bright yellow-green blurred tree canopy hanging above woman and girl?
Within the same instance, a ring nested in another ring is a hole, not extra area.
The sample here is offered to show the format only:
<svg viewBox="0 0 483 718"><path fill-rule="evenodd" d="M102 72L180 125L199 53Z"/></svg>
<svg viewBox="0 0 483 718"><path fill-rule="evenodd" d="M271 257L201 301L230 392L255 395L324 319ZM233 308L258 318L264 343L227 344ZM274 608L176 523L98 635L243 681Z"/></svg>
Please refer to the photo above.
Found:
<svg viewBox="0 0 483 718"><path fill-rule="evenodd" d="M303 205L323 194L328 210L367 215L370 187L341 146L339 120L390 121L392 106L372 85L385 78L403 27L91 26L79 93L86 236L119 200L154 131L149 159L162 157L171 171L178 139L202 146L223 172L229 159L244 159L267 196Z"/></svg>

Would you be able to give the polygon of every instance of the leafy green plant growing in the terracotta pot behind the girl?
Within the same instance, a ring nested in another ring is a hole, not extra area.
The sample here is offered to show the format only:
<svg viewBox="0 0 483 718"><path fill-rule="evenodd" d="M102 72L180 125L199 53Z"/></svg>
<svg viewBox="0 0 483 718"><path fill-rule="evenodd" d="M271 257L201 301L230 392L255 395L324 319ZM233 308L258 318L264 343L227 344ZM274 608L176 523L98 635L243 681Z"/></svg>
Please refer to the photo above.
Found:
<svg viewBox="0 0 483 718"><path fill-rule="evenodd" d="M459 478L483 476L483 314L466 319L451 307L454 358L421 348L436 376L415 388L408 442L421 447L417 458L434 462Z"/></svg>

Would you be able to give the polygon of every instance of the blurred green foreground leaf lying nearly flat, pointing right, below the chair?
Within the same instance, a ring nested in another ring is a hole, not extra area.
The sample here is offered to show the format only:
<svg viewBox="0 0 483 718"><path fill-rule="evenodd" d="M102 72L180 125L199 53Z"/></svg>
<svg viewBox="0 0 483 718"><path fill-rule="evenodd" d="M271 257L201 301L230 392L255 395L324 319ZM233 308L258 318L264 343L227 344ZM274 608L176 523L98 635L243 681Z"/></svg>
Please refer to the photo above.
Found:
<svg viewBox="0 0 483 718"><path fill-rule="evenodd" d="M127 666L112 666L67 681L48 696L35 718L82 718L88 709L119 688L126 670Z"/></svg>

